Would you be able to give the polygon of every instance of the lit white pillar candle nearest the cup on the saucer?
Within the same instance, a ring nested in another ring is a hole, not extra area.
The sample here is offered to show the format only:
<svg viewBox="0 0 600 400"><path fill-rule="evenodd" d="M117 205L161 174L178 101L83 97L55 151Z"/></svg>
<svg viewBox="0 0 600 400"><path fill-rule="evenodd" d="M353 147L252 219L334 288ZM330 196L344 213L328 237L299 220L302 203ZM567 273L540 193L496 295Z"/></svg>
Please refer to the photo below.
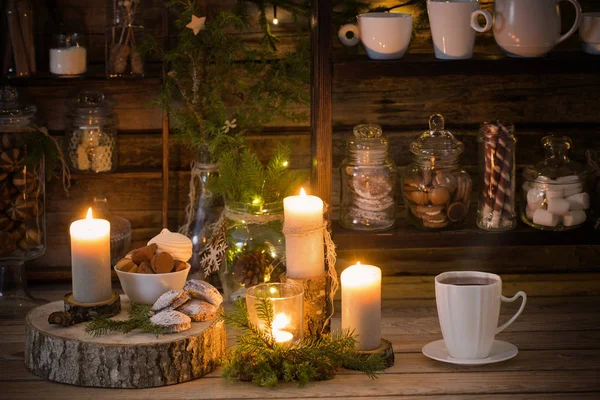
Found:
<svg viewBox="0 0 600 400"><path fill-rule="evenodd" d="M357 263L346 268L342 281L342 329L354 331L358 350L381 345L381 270Z"/></svg>

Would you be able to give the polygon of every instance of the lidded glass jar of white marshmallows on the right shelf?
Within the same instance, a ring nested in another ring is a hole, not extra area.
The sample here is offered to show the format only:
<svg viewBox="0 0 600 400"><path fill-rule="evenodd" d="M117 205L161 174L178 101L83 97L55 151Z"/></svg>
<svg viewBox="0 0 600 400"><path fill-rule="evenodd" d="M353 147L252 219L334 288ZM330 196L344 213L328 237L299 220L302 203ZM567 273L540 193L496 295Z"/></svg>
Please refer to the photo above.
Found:
<svg viewBox="0 0 600 400"><path fill-rule="evenodd" d="M580 227L590 207L586 168L569 159L568 136L546 136L542 146L544 161L523 171L521 219L542 230Z"/></svg>

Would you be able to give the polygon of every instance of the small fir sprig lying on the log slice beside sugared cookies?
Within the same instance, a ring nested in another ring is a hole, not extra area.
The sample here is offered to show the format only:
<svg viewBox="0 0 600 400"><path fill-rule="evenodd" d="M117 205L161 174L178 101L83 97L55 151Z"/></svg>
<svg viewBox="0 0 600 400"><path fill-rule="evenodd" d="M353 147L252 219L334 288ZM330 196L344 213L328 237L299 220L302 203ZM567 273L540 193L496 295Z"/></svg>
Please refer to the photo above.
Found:
<svg viewBox="0 0 600 400"><path fill-rule="evenodd" d="M152 333L156 336L166 333L166 329L158 326L152 321L152 306L146 304L132 303L129 310L129 316L126 320L112 320L110 318L96 318L92 320L85 328L85 332L93 336L103 336L111 332L130 333L134 330L140 332Z"/></svg>

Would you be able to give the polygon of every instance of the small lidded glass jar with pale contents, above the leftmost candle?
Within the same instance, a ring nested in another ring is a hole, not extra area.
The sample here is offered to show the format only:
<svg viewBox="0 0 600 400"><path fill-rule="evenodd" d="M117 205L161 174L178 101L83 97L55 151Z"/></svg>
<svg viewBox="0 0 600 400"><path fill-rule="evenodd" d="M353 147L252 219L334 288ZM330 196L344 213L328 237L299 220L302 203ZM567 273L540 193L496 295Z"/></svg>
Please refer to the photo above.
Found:
<svg viewBox="0 0 600 400"><path fill-rule="evenodd" d="M65 132L71 170L80 173L117 169L117 127L104 94L83 91L68 115Z"/></svg>

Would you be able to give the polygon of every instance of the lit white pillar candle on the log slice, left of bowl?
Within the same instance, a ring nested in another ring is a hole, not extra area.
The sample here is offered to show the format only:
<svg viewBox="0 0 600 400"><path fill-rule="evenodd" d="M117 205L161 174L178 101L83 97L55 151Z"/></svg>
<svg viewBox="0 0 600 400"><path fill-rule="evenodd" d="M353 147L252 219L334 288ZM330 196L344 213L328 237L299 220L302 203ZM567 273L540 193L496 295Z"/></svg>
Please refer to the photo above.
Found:
<svg viewBox="0 0 600 400"><path fill-rule="evenodd" d="M110 299L110 223L92 218L90 208L86 219L73 222L70 231L73 298L81 303Z"/></svg>

